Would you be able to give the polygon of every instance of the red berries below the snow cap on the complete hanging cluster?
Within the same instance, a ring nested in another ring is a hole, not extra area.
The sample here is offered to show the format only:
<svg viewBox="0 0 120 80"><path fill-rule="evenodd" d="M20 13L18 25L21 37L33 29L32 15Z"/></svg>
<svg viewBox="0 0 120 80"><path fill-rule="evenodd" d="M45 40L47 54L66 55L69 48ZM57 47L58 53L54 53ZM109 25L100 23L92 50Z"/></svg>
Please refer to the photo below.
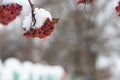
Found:
<svg viewBox="0 0 120 80"><path fill-rule="evenodd" d="M40 28L30 28L29 31L25 32L23 35L26 38L34 38L38 37L40 39L45 38L47 36L50 36L51 32L54 30L54 24L56 24L59 21L59 19L52 19L50 20L47 18Z"/></svg>

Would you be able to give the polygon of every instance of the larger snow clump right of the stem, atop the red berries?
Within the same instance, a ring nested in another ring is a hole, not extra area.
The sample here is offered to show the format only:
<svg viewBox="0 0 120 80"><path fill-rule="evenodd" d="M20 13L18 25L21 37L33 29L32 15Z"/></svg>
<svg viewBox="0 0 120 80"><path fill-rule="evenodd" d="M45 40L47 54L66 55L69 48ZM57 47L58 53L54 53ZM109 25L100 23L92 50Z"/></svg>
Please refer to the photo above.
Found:
<svg viewBox="0 0 120 80"><path fill-rule="evenodd" d="M50 12L46 11L43 8L40 8L40 9L35 8L34 14L36 18L36 24L34 28L41 27L43 23L45 22L46 18L49 18L50 20L52 20L52 15L50 14Z"/></svg>

